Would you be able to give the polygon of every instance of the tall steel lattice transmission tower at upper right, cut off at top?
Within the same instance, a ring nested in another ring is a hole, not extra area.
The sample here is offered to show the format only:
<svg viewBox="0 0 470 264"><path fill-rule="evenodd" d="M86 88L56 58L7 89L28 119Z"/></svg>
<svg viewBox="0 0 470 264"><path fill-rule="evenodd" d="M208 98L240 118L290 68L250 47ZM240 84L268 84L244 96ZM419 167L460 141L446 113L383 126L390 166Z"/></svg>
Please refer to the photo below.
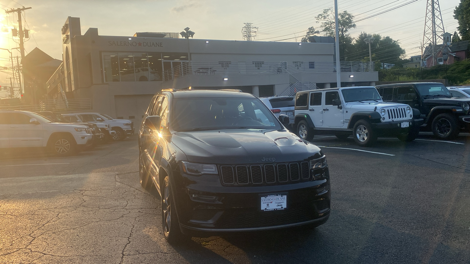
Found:
<svg viewBox="0 0 470 264"><path fill-rule="evenodd" d="M438 64L437 55L439 51L443 52L447 47L447 41L445 41L442 36L445 32L444 22L442 21L439 8L439 0L427 0L426 18L424 20L423 50L432 55L432 63L427 66ZM442 45L439 45L441 43ZM430 46L425 47L427 44ZM422 54L421 57L422 61L424 60L423 55L424 54Z"/></svg>

